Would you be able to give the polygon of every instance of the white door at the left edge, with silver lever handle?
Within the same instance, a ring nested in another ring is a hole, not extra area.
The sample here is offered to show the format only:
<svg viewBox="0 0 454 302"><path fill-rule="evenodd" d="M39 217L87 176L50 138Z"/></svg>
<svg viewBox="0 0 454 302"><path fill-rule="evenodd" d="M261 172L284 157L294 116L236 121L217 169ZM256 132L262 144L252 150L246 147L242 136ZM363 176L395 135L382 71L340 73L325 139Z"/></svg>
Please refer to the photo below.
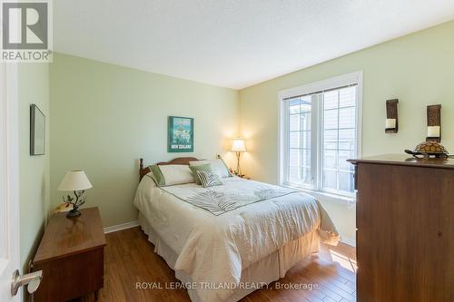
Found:
<svg viewBox="0 0 454 302"><path fill-rule="evenodd" d="M0 63L0 301L20 301L11 280L20 269L17 65Z"/></svg>

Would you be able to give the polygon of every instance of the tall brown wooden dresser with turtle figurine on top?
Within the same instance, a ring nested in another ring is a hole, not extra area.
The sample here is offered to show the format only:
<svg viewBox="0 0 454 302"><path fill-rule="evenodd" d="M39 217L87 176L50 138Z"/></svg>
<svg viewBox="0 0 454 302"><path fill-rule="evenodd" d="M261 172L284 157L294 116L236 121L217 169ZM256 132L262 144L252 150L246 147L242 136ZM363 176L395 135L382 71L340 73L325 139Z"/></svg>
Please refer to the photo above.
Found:
<svg viewBox="0 0 454 302"><path fill-rule="evenodd" d="M360 302L454 301L454 160L350 160Z"/></svg>

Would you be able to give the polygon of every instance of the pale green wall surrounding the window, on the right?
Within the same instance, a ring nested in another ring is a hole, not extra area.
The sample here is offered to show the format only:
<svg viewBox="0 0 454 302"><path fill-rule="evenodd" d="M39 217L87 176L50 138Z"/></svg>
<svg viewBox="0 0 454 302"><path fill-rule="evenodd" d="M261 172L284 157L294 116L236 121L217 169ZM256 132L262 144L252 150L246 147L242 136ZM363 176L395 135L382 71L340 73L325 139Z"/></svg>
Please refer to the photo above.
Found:
<svg viewBox="0 0 454 302"><path fill-rule="evenodd" d="M406 35L240 92L241 132L248 138L243 170L277 181L278 92L362 70L362 155L401 153L426 137L426 106L440 103L442 143L454 152L454 22ZM399 98L399 133L386 134L385 101ZM259 110L260 109L260 110ZM355 209L324 202L345 237L355 234Z"/></svg>

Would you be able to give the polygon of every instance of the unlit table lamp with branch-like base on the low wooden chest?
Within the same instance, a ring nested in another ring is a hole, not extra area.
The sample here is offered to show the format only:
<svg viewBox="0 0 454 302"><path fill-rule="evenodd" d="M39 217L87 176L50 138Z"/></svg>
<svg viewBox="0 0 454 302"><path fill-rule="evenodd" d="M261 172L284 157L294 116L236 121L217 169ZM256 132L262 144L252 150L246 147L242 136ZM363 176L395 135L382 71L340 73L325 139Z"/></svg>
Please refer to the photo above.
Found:
<svg viewBox="0 0 454 302"><path fill-rule="evenodd" d="M63 197L63 201L65 203L73 205L73 209L71 209L66 215L67 218L81 216L79 207L85 203L85 190L90 188L92 188L92 184L86 177L84 170L72 170L66 173L64 179L60 183L60 186L58 186L58 190L73 191L75 196L75 201L70 195L66 196L66 200Z"/></svg>

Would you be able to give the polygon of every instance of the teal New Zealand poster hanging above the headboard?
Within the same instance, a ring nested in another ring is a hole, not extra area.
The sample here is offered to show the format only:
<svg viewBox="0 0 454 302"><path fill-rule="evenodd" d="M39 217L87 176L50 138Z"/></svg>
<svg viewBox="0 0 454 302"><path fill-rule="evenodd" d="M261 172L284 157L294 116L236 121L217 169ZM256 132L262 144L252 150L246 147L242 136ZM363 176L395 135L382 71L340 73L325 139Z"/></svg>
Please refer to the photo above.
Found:
<svg viewBox="0 0 454 302"><path fill-rule="evenodd" d="M194 119L181 116L169 116L168 152L194 151Z"/></svg>

